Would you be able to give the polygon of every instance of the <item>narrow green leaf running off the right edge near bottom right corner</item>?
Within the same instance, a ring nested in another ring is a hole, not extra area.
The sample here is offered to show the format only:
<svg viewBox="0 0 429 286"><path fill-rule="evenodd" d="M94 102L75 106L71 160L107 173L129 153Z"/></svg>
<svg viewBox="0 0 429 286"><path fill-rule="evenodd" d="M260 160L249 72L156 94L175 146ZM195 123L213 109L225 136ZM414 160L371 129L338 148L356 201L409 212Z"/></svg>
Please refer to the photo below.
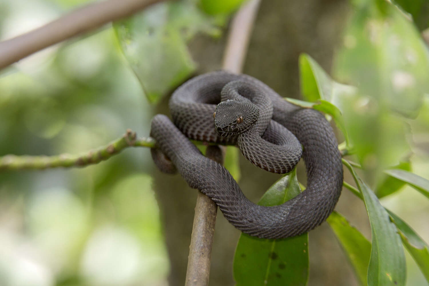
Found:
<svg viewBox="0 0 429 286"><path fill-rule="evenodd" d="M426 280L429 282L429 246L410 226L408 226L408 224L396 216L396 214L393 214L393 212L389 210L387 210L387 212L390 214L393 223L396 224L399 230L402 243L411 256L413 256L423 275L426 277Z"/></svg>

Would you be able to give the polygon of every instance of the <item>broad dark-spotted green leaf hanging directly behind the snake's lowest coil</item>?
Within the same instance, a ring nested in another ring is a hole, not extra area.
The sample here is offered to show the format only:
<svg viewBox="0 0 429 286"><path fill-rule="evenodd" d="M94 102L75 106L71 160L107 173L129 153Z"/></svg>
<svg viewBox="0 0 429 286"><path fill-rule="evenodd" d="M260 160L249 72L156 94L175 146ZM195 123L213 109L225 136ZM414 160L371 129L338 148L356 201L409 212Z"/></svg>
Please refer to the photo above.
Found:
<svg viewBox="0 0 429 286"><path fill-rule="evenodd" d="M280 205L300 192L296 170L278 180L260 205ZM299 286L308 279L308 234L270 240L241 234L234 255L237 286Z"/></svg>

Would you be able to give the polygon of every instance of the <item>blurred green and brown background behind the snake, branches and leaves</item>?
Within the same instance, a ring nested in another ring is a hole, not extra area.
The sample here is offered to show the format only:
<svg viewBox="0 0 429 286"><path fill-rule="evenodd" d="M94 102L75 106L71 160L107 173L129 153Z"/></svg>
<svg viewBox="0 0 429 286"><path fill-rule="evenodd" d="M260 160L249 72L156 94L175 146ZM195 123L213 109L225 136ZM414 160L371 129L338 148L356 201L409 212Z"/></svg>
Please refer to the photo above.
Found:
<svg viewBox="0 0 429 286"><path fill-rule="evenodd" d="M31 30L86 2L3 0L0 38ZM282 96L301 98L299 54L310 54L329 72L351 11L343 0L263 0L243 72ZM153 17L160 13L158 9ZM204 23L210 25L182 31L189 34L184 53L193 59L185 60L185 66L195 74L221 68L229 17ZM151 103L151 96L171 92L172 87L155 88L154 93L142 88L145 83L123 50L118 29L106 25L0 71L0 156L77 154L105 145L127 128L147 136L151 117L168 114L168 96L157 104ZM429 178L427 98L424 106L418 140L411 140L417 142L413 150L418 149L411 162L413 172ZM238 160L239 184L257 202L279 177L241 155ZM305 183L302 165L298 173ZM196 190L179 175L160 173L147 148L127 148L82 169L2 171L0 285L183 285L195 202ZM404 187L381 202L429 241L429 203L423 195ZM363 202L344 190L336 210L371 237ZM211 286L234 285L232 262L239 234L219 212ZM326 223L310 232L309 252L309 286L357 285ZM406 255L407 285L428 285Z"/></svg>

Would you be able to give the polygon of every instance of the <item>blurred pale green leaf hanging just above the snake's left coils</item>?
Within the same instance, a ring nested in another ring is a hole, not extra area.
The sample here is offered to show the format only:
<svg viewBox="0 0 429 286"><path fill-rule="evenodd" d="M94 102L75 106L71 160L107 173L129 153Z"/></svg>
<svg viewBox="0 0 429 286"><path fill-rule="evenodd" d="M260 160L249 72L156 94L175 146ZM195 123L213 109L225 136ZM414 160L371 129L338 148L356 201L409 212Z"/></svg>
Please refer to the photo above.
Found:
<svg viewBox="0 0 429 286"><path fill-rule="evenodd" d="M195 70L186 42L198 32L220 36L224 16L208 16L192 1L164 2L114 24L121 48L149 101L158 102Z"/></svg>

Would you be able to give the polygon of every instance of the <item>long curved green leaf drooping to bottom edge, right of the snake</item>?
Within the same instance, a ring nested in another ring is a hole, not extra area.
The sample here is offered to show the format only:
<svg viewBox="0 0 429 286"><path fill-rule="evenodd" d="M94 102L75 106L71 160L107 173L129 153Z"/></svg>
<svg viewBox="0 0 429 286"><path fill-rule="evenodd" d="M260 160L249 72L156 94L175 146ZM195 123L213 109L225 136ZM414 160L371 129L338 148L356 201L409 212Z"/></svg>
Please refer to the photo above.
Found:
<svg viewBox="0 0 429 286"><path fill-rule="evenodd" d="M343 163L350 170L363 196L371 224L372 248L368 266L368 286L405 285L405 255L396 226L378 201L377 196L356 175L347 161Z"/></svg>

